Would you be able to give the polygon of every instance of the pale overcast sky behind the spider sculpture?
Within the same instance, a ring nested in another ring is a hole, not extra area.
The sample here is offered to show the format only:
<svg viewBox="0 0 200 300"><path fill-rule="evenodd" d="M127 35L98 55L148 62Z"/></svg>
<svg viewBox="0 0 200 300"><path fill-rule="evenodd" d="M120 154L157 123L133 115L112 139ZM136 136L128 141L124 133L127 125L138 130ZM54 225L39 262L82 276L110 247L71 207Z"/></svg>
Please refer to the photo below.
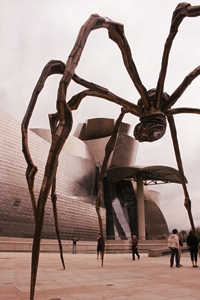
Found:
<svg viewBox="0 0 200 300"><path fill-rule="evenodd" d="M124 24L132 56L142 83L155 88L163 47L169 32L174 0L0 0L0 109L21 122L43 67L51 59L67 61L80 27L97 13ZM191 3L195 5L196 3ZM184 77L199 65L200 17L183 20L172 45L165 92L171 94ZM93 31L84 48L76 73L137 103L140 98L123 65L121 53L106 29ZM55 112L60 75L47 79L38 99L30 127L48 128L48 113ZM200 78L188 87L174 107L200 107ZM81 88L72 83L67 100ZM74 116L79 122L95 117L117 118L120 107L106 100L86 98ZM135 126L136 117L124 122ZM200 226L200 116L175 116L192 212ZM173 146L167 133L158 142L139 145L137 165L167 165L177 168ZM161 192L161 209L169 229L189 229L181 185L153 186Z"/></svg>

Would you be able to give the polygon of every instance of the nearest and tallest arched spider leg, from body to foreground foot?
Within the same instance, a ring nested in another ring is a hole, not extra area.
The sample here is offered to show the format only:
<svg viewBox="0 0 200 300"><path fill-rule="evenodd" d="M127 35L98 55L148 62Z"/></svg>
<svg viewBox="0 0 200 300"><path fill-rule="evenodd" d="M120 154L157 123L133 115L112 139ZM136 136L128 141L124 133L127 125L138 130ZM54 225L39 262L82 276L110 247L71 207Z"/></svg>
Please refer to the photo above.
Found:
<svg viewBox="0 0 200 300"><path fill-rule="evenodd" d="M67 87L74 75L75 68L79 62L81 57L84 45L86 43L87 37L91 30L98 29L98 28L109 28L109 34L112 36L112 39L115 42L120 43L120 36L117 35L117 32L121 31L123 27L121 24L117 24L109 19L101 18L98 15L92 15L88 21L81 27L79 32L78 38L76 43L69 55L69 58L66 63L66 67L62 76L62 79L59 84L58 89L58 96L57 96L57 111L59 114L59 123L57 126L56 135L53 138L52 146L50 149L50 153L48 156L47 165L45 168L45 175L42 183L42 188L40 191L40 195L38 198L38 205L36 209L36 228L33 240L33 252L32 252L32 277L31 277L31 300L34 297L34 290L35 290L35 282L37 276L37 267L38 267L38 260L39 260L39 249L40 249L40 241L41 241L41 232L43 226L43 219L44 219L44 207L46 203L46 199L48 197L49 190L51 188L53 179L55 177L56 169L57 169L57 162L58 162L58 155L61 151L63 146L63 142L65 142L69 132L71 131L72 127L72 116L71 110L69 109L68 105L66 104L66 90ZM123 30L122 30L123 31ZM116 32L116 33L115 33ZM122 46L123 43L121 43ZM130 50L130 48L129 48ZM130 53L129 53L130 54ZM127 55L126 50L123 48L123 58L124 60L132 62L132 67L134 63L132 61L131 55ZM127 66L127 64L126 64ZM131 67L128 63L128 67ZM142 86L139 76L137 76L136 68L134 70L129 70L129 74L131 74L134 84L136 88L139 90L141 96L144 99L144 105L149 108L148 103L148 94L146 89ZM69 121L68 121L69 120ZM58 132L59 131L59 132ZM59 138L57 138L59 136ZM56 151L57 150L57 151ZM54 156L55 155L55 156ZM49 166L52 166L52 170ZM48 174L49 171L49 174Z"/></svg>

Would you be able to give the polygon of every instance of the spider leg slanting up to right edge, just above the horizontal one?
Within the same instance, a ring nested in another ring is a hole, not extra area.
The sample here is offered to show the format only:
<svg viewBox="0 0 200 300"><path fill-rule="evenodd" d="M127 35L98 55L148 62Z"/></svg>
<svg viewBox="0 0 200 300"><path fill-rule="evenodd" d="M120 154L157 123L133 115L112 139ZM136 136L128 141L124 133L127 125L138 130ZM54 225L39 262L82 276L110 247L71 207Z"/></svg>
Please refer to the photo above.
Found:
<svg viewBox="0 0 200 300"><path fill-rule="evenodd" d="M171 94L169 99L162 105L162 111L168 110L171 108L176 101L181 97L187 87L191 84L191 82L200 75L200 66L196 69L192 70L182 81L182 83L177 87L177 89Z"/></svg>

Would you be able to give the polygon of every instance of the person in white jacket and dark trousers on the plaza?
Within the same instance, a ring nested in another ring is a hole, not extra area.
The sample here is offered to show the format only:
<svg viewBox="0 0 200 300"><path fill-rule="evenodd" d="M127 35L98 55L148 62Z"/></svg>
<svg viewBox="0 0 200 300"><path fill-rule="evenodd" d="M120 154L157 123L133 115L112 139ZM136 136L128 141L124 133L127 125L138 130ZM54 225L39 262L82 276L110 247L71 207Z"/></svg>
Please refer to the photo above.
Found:
<svg viewBox="0 0 200 300"><path fill-rule="evenodd" d="M175 257L175 262L176 262L176 267L179 268L179 237L177 235L178 230L173 229L172 234L170 234L168 238L168 247L171 249L171 256L170 256L170 267L173 267L174 264L174 257Z"/></svg>

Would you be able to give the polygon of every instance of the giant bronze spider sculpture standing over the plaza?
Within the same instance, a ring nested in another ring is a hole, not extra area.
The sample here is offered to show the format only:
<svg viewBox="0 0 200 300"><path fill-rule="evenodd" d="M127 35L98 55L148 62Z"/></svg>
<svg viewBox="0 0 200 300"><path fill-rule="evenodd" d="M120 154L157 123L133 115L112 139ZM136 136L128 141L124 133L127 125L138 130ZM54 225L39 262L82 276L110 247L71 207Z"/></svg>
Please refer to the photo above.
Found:
<svg viewBox="0 0 200 300"><path fill-rule="evenodd" d="M195 113L200 114L200 109L197 108L176 108L171 109L173 104L181 97L189 84L200 74L200 67L194 69L189 73L182 81L182 83L177 87L177 89L168 95L163 91L164 81L167 72L168 58L172 42L178 32L178 27L185 17L197 17L200 15L200 6L191 6L189 3L180 3L175 8L169 35L167 37L166 43L164 45L164 52L161 62L161 70L158 77L157 86L155 89L149 91L143 86L141 79L138 75L135 63L132 59L131 49L124 35L123 25L114 22L108 18L100 17L97 14L91 15L86 23L81 27L78 34L75 45L65 63L61 61L50 61L43 69L42 74L35 86L33 91L27 112L22 121L22 147L25 159L27 161L27 171L26 178L28 182L29 193L32 200L33 212L35 216L35 232L33 239L32 248L32 269L31 269L31 289L30 289L30 299L34 299L34 291L36 284L37 268L39 261L40 252L40 241L41 233L44 220L44 210L48 195L51 191L51 199L53 202L53 210L55 217L56 232L58 236L61 260L64 265L64 260L62 256L62 244L60 241L57 213L56 213L56 172L58 166L58 157L62 150L62 147L70 134L72 129L72 111L76 110L81 102L81 100L86 96L93 96L112 101L120 106L122 106L121 114L119 115L111 138L106 145L105 157L103 161L102 171L99 176L98 181L98 192L96 195L96 210L99 220L100 231L103 235L102 220L100 214L100 205L102 201L102 181L105 175L107 162L109 156L113 150L116 134L118 127L126 113L133 114L140 119L140 123L136 125L134 130L134 136L139 142L154 142L160 139L166 130L166 122L168 121L171 136L173 140L174 151L176 155L177 165L180 172L181 183L183 187L183 192L185 196L184 205L187 209L189 220L193 231L195 231L193 217L191 213L191 201L189 193L187 191L185 176L179 151L179 145L176 135L176 127L174 123L173 115L179 113ZM137 91L140 94L140 99L138 104L130 103L129 101L118 97L117 95L111 93L109 90L101 87L95 83L88 82L75 74L75 69L78 65L79 59L81 57L83 48L85 46L86 40L92 30L106 28L108 30L109 38L113 40L119 47L122 53L124 65L129 73L129 76L135 85ZM41 185L41 190L36 202L34 195L34 178L37 173L37 167L34 165L31 154L28 147L28 136L27 128L34 110L39 93L41 92L45 80L48 76L52 74L61 74L62 78L59 83L58 96L57 96L57 112L55 114L49 115L50 128L52 134L52 143L49 150L49 155L44 170L44 177ZM73 80L77 84L85 87L86 89L77 95L74 95L68 102L66 102L67 88ZM104 249L103 249L104 255ZM102 259L103 265L103 259Z"/></svg>

